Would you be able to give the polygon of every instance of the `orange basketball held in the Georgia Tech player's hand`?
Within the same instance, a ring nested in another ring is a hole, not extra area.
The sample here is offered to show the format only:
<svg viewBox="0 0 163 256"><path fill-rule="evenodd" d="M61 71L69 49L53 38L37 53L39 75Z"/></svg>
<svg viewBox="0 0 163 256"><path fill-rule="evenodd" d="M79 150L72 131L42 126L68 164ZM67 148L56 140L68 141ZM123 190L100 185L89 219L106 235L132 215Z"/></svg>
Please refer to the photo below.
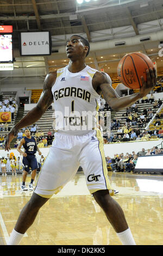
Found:
<svg viewBox="0 0 163 256"><path fill-rule="evenodd" d="M142 87L141 76L147 81L146 70L154 68L152 60L143 53L126 54L118 63L117 74L120 81L130 89Z"/></svg>

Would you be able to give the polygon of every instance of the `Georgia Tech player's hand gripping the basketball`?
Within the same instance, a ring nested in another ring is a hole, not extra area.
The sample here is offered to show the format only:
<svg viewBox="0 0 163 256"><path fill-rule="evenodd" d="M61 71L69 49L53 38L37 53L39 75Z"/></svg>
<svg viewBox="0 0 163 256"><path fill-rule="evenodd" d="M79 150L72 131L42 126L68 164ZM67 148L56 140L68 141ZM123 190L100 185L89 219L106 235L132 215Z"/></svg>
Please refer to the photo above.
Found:
<svg viewBox="0 0 163 256"><path fill-rule="evenodd" d="M146 74L147 74L147 82L145 81L143 76L141 77L142 87L139 91L139 94L141 97L146 96L156 85L156 69L155 68L147 69Z"/></svg>

